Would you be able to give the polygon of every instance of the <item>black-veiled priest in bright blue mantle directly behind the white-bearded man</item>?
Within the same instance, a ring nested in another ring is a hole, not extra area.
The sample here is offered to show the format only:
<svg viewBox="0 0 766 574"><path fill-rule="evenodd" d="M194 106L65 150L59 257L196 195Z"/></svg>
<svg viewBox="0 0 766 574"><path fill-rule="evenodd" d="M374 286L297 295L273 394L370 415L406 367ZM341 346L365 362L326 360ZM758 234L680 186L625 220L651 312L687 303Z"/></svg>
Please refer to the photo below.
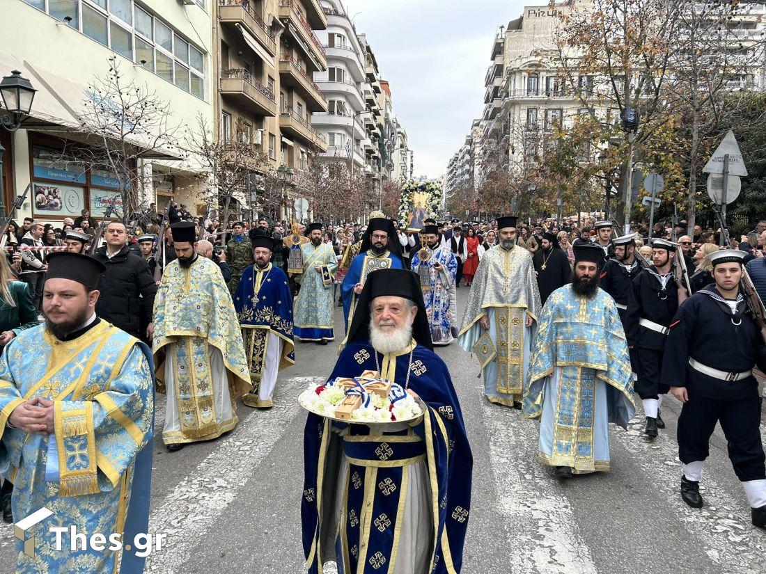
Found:
<svg viewBox="0 0 766 574"><path fill-rule="evenodd" d="M354 316L356 299L362 292L368 273L379 269L404 269L401 243L394 223L385 217L373 217L362 237L362 247L349 266L341 285L345 331L349 331L349 317Z"/></svg>

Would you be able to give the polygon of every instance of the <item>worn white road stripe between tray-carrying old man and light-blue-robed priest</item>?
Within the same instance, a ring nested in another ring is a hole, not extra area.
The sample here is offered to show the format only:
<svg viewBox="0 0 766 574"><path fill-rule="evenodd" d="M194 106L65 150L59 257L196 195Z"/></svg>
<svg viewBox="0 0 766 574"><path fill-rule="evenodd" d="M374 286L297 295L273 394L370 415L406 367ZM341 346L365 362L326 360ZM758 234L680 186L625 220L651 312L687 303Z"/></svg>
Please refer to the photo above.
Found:
<svg viewBox="0 0 766 574"><path fill-rule="evenodd" d="M537 461L537 426L517 410L482 402L497 504L514 549L509 572L594 574L591 552L572 528L569 501Z"/></svg>

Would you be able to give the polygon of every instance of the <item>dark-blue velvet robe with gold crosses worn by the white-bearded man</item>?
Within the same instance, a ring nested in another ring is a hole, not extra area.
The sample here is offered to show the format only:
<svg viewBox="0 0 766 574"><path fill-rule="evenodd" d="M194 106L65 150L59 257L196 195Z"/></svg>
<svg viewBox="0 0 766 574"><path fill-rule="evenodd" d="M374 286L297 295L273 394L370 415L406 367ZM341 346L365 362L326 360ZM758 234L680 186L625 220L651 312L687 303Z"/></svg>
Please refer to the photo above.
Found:
<svg viewBox="0 0 766 574"><path fill-rule="evenodd" d="M417 540L429 549L425 572L460 572L473 458L450 373L437 354L421 345L411 344L401 354L378 354L378 360L375 354L366 341L349 344L329 378L356 377L364 370L378 370L379 364L382 377L404 386L409 369L409 388L421 396L428 411L408 430L391 434L309 414L303 434L301 506L308 572L321 574L328 559L336 559L345 574L394 572L407 494L404 477L408 465L419 461L427 464L427 503L433 518L427 539ZM345 429L342 438L338 429ZM348 484L340 485L347 493L345 500L336 501L340 452L350 465ZM335 536L335 530L326 527L326 519L339 505L343 509L339 536L335 547L327 548L322 540Z"/></svg>

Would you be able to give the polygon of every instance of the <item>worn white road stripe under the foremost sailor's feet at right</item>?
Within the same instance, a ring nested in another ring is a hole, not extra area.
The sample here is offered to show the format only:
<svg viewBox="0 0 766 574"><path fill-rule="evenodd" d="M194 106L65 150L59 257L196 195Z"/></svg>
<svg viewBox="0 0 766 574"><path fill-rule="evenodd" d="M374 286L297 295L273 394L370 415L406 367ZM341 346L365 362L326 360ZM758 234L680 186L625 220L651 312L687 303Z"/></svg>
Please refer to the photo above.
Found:
<svg viewBox="0 0 766 574"><path fill-rule="evenodd" d="M637 401L640 404L640 401ZM663 411L664 412L664 411ZM758 574L763 572L766 538L763 530L750 522L750 508L741 488L726 492L713 480L712 473L702 471L699 490L705 506L696 510L684 504L679 492L681 462L675 435L660 431L653 441L644 438L645 416L637 409L628 423L627 432L614 429L611 439L630 452L644 471L654 479L660 498L666 500L669 510L695 535L709 558L722 570L722 574ZM733 472L733 471L732 471Z"/></svg>

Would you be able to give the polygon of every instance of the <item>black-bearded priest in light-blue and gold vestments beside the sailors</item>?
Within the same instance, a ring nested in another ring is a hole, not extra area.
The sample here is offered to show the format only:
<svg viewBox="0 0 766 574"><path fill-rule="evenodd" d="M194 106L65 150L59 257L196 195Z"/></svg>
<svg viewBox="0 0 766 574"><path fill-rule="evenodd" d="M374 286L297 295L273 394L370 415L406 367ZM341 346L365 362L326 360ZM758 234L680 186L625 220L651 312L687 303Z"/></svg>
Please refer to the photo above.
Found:
<svg viewBox="0 0 766 574"><path fill-rule="evenodd" d="M558 478L610 469L608 423L635 413L625 333L614 299L598 288L598 246L575 246L572 282L538 323L522 415L540 419L538 458Z"/></svg>

